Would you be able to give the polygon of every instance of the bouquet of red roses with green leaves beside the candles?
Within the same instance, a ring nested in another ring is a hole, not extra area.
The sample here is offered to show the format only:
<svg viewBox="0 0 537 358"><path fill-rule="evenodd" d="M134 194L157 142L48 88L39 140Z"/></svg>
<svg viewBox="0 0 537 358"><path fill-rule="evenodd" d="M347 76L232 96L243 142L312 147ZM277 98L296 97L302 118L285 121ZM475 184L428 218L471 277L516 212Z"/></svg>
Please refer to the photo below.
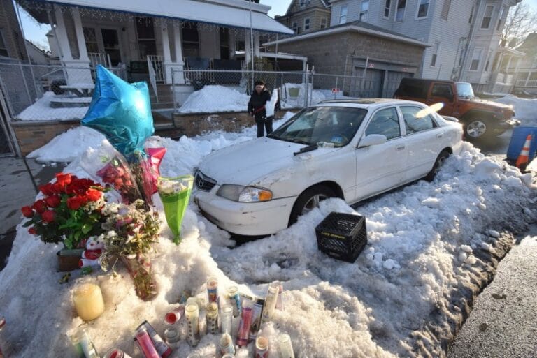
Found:
<svg viewBox="0 0 537 358"><path fill-rule="evenodd" d="M45 243L63 241L66 248L84 247L84 239L103 232L101 214L105 204L101 184L72 174L58 173L56 181L40 186L44 197L22 207L30 220L24 223L30 234Z"/></svg>

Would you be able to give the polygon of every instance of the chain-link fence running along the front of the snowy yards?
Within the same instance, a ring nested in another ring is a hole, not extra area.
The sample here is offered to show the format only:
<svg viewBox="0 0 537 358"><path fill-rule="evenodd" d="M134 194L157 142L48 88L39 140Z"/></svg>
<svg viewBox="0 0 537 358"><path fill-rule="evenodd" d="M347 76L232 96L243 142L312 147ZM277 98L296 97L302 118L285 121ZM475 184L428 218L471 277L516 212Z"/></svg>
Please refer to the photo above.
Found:
<svg viewBox="0 0 537 358"><path fill-rule="evenodd" d="M125 68L112 71L129 82L150 80L148 74L128 73ZM361 77L308 70L174 68L171 77L171 84L161 82L148 86L154 108L163 108L163 104L169 103L167 108L171 110L173 106L176 113L245 112L255 80L263 80L268 90L278 91L282 109L300 109L322 100L363 97L366 94ZM92 100L94 80L95 68L22 62L0 64L0 87L10 118L15 121L82 119ZM157 91L159 94L155 93ZM169 91L169 94L163 91Z"/></svg>

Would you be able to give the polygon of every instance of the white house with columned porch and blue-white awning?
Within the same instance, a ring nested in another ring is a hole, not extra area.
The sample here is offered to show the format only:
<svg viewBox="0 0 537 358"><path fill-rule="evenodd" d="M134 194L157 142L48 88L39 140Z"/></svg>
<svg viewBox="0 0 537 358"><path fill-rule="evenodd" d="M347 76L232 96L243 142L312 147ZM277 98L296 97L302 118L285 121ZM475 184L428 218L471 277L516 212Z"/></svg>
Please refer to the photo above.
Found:
<svg viewBox="0 0 537 358"><path fill-rule="evenodd" d="M244 0L17 2L38 22L53 25L48 34L51 50L57 51L62 65L124 65L129 80L169 84L173 68L237 68L236 50L245 51L246 61L252 56L250 29L254 54L259 54L260 35L293 33L268 17L270 6ZM68 85L92 83L89 70L66 73Z"/></svg>

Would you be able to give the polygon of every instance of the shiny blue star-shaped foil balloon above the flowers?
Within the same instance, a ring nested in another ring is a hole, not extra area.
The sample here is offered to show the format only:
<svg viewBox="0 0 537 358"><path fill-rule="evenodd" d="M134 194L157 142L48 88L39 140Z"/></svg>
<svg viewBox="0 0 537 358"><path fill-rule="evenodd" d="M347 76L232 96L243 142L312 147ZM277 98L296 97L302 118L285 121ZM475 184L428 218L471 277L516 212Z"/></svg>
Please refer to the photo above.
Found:
<svg viewBox="0 0 537 358"><path fill-rule="evenodd" d="M135 151L143 151L145 140L155 132L148 84L130 84L97 65L92 103L82 125L99 130L131 159Z"/></svg>

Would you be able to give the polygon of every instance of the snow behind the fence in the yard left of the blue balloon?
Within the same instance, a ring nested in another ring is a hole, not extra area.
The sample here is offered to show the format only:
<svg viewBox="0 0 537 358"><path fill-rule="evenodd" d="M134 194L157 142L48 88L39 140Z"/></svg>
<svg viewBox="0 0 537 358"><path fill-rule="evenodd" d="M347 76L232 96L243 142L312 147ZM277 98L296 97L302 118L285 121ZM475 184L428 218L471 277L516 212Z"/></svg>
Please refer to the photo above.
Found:
<svg viewBox="0 0 537 358"><path fill-rule="evenodd" d="M57 96L51 91L45 92L43 97L20 112L15 116L15 119L20 119L21 121L67 121L69 119L82 119L89 108L52 108L50 107L50 101L55 98L61 98L61 96Z"/></svg>

